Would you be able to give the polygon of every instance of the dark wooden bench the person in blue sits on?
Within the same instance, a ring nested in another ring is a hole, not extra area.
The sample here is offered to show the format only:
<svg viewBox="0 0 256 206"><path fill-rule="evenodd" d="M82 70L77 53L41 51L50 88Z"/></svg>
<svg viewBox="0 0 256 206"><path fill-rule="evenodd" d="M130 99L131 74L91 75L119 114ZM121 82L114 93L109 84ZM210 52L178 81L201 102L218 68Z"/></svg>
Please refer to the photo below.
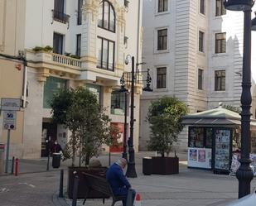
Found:
<svg viewBox="0 0 256 206"><path fill-rule="evenodd" d="M83 204L85 204L85 201L91 189L94 189L95 191L98 191L102 194L106 194L107 196L112 197L111 206L114 206L114 204L118 201L122 201L123 199L126 199L126 196L114 195L109 182L105 178L99 177L96 175L90 175L85 172L83 172L83 175L85 176L85 181L87 183L85 200ZM104 203L105 203L105 199L103 199L103 204Z"/></svg>

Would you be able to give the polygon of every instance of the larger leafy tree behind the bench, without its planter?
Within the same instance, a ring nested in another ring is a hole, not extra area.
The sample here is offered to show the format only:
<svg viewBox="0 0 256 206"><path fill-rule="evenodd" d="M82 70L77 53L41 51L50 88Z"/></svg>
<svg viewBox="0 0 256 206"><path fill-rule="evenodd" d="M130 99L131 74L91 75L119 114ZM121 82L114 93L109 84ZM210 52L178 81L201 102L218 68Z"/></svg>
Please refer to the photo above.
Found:
<svg viewBox="0 0 256 206"><path fill-rule="evenodd" d="M60 90L52 99L51 108L53 121L71 132L63 155L65 159L72 158L72 166L76 151L80 151L82 161L89 165L89 159L99 155L100 146L113 144L111 134L118 133L117 128L110 127L109 116L88 89Z"/></svg>

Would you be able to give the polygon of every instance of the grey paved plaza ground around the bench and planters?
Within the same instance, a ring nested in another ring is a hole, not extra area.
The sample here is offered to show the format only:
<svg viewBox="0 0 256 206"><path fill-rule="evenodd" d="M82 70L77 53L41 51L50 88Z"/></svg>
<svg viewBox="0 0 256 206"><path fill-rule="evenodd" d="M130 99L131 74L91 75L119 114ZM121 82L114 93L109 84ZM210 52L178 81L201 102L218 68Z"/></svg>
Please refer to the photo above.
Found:
<svg viewBox="0 0 256 206"><path fill-rule="evenodd" d="M186 167L186 153L180 157L180 173L177 175L142 175L142 156L153 153L141 152L136 156L138 178L129 179L133 188L141 194L142 206L224 206L237 199L238 180L230 175L214 175L209 170L192 170ZM111 156L111 162L120 154ZM103 165L109 165L109 156L99 156ZM62 163L66 169L70 162ZM1 206L69 206L70 199L59 199L60 169L46 171L46 159L21 160L20 172L16 176L0 176ZM34 170L34 172L33 172ZM65 170L64 186L66 189ZM252 191L256 180L252 181ZM66 197L66 194L65 194ZM83 199L77 201L82 205ZM111 200L105 202L110 206ZM104 205L101 199L88 199L86 206ZM115 204L120 206L120 203Z"/></svg>

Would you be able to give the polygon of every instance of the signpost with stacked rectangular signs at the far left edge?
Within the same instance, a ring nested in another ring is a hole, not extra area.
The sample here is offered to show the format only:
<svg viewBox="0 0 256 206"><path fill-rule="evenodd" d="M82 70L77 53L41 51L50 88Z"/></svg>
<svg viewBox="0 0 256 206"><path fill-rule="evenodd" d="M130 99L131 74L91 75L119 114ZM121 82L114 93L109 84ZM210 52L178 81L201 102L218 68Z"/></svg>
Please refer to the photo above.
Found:
<svg viewBox="0 0 256 206"><path fill-rule="evenodd" d="M1 109L3 112L2 127L7 130L7 153L5 160L5 172L8 172L8 161L9 161L9 149L10 149L10 137L11 130L16 130L16 111L21 109L21 99L20 98L2 98L1 99Z"/></svg>

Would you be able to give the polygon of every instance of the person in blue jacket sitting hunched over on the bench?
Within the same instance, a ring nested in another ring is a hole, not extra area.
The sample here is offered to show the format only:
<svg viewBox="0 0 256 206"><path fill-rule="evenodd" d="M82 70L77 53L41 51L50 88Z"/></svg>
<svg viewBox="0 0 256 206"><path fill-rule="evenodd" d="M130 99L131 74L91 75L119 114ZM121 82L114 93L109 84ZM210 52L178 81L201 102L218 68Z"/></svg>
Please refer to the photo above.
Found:
<svg viewBox="0 0 256 206"><path fill-rule="evenodd" d="M129 189L133 192L132 203L136 194L135 190L131 189L132 186L129 184L127 178L123 175L123 170L126 165L127 161L124 158L121 158L109 167L106 174L114 195L126 196L126 199L123 199L123 206L126 206Z"/></svg>

